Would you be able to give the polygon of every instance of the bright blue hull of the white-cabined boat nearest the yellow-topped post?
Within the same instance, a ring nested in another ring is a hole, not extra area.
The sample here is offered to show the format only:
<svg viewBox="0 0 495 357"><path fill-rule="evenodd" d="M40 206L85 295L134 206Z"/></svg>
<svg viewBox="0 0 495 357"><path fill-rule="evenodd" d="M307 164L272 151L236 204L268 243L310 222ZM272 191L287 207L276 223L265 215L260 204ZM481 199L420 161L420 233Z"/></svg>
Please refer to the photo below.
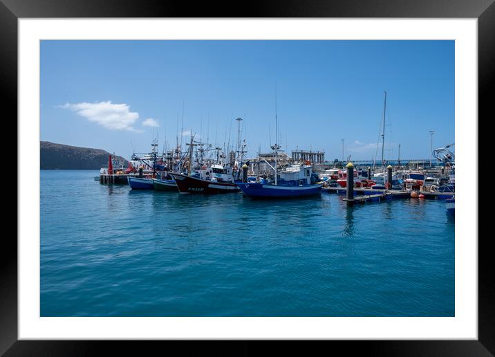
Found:
<svg viewBox="0 0 495 357"><path fill-rule="evenodd" d="M307 186L276 186L263 183L239 183L245 196L252 199L293 199L321 194L323 183Z"/></svg>

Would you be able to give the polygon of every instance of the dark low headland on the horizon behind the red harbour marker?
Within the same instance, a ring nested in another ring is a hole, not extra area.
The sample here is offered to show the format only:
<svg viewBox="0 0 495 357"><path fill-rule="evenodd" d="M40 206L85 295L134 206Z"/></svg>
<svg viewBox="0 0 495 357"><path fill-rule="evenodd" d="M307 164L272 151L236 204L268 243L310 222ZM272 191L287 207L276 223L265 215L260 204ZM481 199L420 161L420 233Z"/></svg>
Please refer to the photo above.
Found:
<svg viewBox="0 0 495 357"><path fill-rule="evenodd" d="M108 165L109 154L101 149L40 142L41 170L100 170ZM125 158L115 156L115 159L118 166L127 166Z"/></svg>

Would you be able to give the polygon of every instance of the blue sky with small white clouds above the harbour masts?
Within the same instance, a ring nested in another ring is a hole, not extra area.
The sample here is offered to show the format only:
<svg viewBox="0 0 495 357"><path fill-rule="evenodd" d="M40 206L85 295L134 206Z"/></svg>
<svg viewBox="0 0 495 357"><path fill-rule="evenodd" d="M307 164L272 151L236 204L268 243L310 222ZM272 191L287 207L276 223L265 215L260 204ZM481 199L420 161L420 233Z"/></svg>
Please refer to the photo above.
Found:
<svg viewBox="0 0 495 357"><path fill-rule="evenodd" d="M454 41L43 41L40 90L41 140L125 158L174 147L183 105L184 131L232 145L241 117L269 152L277 97L282 149L371 160L384 90L385 158L454 142Z"/></svg>

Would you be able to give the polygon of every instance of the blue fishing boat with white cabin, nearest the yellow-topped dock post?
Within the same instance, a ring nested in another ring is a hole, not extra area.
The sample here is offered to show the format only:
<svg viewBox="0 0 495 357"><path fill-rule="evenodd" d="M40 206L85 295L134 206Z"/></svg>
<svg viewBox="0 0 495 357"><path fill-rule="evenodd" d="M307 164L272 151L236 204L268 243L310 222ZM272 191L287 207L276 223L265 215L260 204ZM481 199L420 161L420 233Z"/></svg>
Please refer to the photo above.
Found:
<svg viewBox="0 0 495 357"><path fill-rule="evenodd" d="M324 184L312 183L312 167L309 165L293 165L277 176L280 176L280 180L275 183L263 178L260 182L237 185L245 196L252 199L292 199L320 194Z"/></svg>

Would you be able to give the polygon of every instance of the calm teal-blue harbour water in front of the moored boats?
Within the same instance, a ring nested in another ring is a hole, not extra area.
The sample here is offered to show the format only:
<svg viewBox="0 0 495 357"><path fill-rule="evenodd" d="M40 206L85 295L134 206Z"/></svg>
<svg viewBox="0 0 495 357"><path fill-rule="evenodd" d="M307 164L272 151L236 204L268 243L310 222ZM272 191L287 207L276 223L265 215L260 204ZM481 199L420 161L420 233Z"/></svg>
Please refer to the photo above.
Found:
<svg viewBox="0 0 495 357"><path fill-rule="evenodd" d="M445 202L346 208L41 171L42 316L452 316Z"/></svg>

